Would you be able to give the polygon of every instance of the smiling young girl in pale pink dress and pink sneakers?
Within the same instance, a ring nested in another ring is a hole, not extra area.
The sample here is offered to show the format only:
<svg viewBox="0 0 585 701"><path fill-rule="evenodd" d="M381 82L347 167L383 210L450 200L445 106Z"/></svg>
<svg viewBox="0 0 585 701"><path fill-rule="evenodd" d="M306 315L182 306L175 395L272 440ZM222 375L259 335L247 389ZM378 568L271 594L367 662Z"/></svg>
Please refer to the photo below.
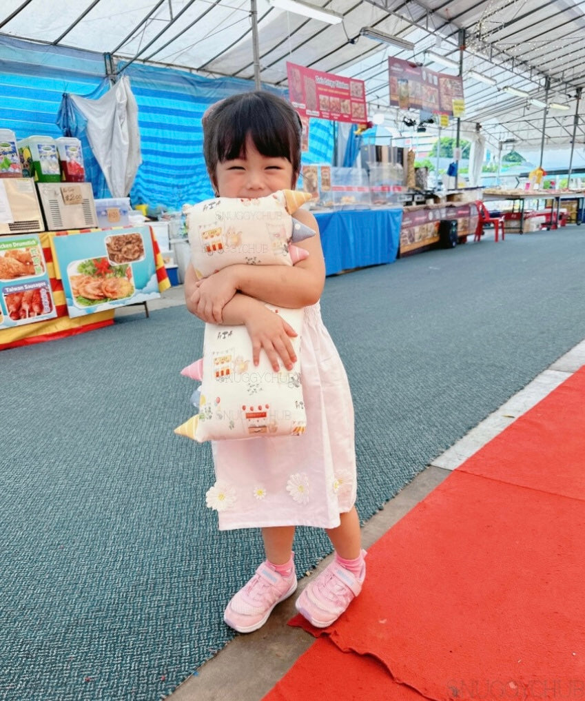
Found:
<svg viewBox="0 0 585 701"><path fill-rule="evenodd" d="M294 189L301 168L301 121L271 93L233 95L203 118L207 171L216 195L257 198ZM189 266L186 305L206 322L245 324L253 360L266 353L275 372L296 360L296 333L263 302L305 308L301 372L307 430L300 436L217 441L212 445L216 488L208 503L219 528L261 528L266 560L235 594L223 620L238 632L258 629L296 590L295 526L326 529L335 559L310 583L296 608L317 627L331 625L362 589L366 574L355 509L354 416L342 362L319 312L325 280L318 226L310 212L296 219L317 234L300 245L307 259L294 266L235 265L197 280Z"/></svg>

